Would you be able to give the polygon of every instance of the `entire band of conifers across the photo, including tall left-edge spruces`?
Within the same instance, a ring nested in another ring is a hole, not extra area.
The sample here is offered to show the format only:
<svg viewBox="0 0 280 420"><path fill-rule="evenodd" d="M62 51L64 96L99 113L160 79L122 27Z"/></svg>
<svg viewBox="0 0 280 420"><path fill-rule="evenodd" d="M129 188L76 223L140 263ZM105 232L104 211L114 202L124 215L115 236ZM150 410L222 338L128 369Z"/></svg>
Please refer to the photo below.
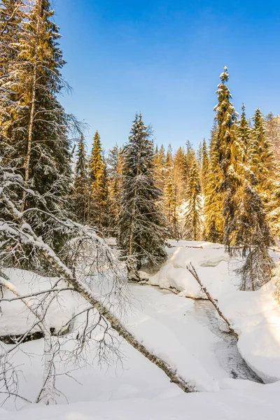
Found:
<svg viewBox="0 0 280 420"><path fill-rule="evenodd" d="M165 260L167 237L217 241L244 258L244 288L267 281L268 248L280 232L279 117L263 118L257 109L248 121L244 106L239 117L225 68L209 146L204 140L198 151L189 142L165 151L153 144L140 114L125 146L105 156L97 132L87 156L83 126L57 99L69 86L50 2L3 0L0 6L1 167L25 182L23 190L13 183L10 197L25 214L38 209L29 221L36 235L62 252L67 235L57 218L90 225L118 237L134 276L143 265ZM9 215L2 198L1 221ZM20 264L30 268L27 245L25 257Z"/></svg>

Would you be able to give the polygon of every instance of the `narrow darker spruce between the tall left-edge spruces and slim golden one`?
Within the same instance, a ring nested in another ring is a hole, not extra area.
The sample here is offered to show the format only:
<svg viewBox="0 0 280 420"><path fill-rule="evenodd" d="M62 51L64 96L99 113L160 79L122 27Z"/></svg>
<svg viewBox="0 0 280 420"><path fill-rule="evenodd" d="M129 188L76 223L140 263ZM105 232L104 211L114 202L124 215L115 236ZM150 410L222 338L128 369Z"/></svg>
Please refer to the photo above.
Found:
<svg viewBox="0 0 280 420"><path fill-rule="evenodd" d="M87 224L89 219L90 191L88 183L87 156L85 152L85 139L80 135L78 144L77 162L74 176L75 214L78 222Z"/></svg>

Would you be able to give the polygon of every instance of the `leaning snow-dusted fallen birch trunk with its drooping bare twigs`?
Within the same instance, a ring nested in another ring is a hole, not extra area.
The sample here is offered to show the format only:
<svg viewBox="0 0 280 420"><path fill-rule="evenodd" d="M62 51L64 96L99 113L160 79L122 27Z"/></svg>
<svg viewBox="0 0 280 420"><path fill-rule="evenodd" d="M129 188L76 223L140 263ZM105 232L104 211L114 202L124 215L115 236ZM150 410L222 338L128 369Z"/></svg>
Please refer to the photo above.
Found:
<svg viewBox="0 0 280 420"><path fill-rule="evenodd" d="M116 260L111 249L109 246L106 246L104 240L98 237L90 226L80 225L70 220L59 220L59 218L49 213L46 209L45 214L48 215L48 218L52 218L55 223L63 229L64 233L69 232L69 244L66 248L66 255L64 255L64 259L62 260L60 254L57 255L57 253L43 241L42 237L36 235L36 232L29 222L29 216L31 214L32 216L36 216L36 214L39 216L42 213L42 210L34 208L21 211L21 203L16 202L13 200L13 196L9 195L9 188L10 186L13 187L13 183L16 183L17 188L22 186L24 188L25 184L22 183L18 177L15 178L13 174L3 174L3 179L5 182L2 183L0 188L0 202L9 215L9 221L0 221L1 238L3 239L3 248L2 250L0 249L3 255L2 261L7 264L7 262L11 260L11 255L15 255L15 251L17 252L17 258L19 258L18 261L20 261L21 258L24 259L25 246L29 246L29 248L32 249L32 255L34 255L34 258L38 261L38 267L40 267L40 263L43 263L44 266L45 263L48 262L48 267L52 268L52 272L55 275L64 279L68 288L71 288L73 292L78 293L78 295L82 296L90 303L91 308L85 310L87 315L91 309L95 309L95 311L99 313L97 323L91 325L90 330L87 330L89 322L87 317L82 337L78 340L81 346L85 343L85 337L89 337L90 339L90 332L97 324L102 325L104 335L108 335L112 328L118 332L120 337L123 337L131 344L134 349L140 351L148 360L160 367L160 369L167 374L170 381L178 385L184 392L193 391L186 382L186 379L181 377L172 366L165 362L165 360L162 360L156 353L153 353L153 351L146 348L146 346L139 341L125 325L123 325L123 321L120 321L122 309L125 309L127 304L129 304L127 296L125 296L123 292L126 286L122 279L123 272L120 268L122 265ZM30 190L27 191L27 195L28 194L35 195L35 193L30 192ZM104 281L104 276L108 274L110 274L110 278L113 279L111 281L111 286L109 286L109 290L106 291L105 295L100 296L99 293L92 290L92 281L96 279L99 283L102 283L102 281ZM20 295L17 297L20 297ZM25 300L25 298L23 299ZM117 306L118 315L113 312L113 304ZM111 340L113 340L112 337ZM49 348L52 346L52 342L47 344L49 345ZM103 344L104 339L102 339L102 345ZM109 346L111 346L111 344L109 344ZM48 353L48 349L45 349L45 353ZM51 363L52 372L55 375L53 358L46 361L46 365L50 365ZM44 375L44 380L49 378L48 374ZM43 388L45 388L45 383ZM42 395L39 393L38 400L41 399Z"/></svg>

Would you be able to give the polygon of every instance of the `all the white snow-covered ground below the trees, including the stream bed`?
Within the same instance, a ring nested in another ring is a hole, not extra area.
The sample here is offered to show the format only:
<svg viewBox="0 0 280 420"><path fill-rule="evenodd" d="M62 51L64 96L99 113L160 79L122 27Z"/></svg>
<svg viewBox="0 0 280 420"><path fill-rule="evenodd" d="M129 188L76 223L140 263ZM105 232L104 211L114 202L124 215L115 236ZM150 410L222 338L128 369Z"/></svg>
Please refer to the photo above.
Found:
<svg viewBox="0 0 280 420"><path fill-rule="evenodd" d="M123 366L99 367L94 358L96 346L92 342L83 367L69 360L67 364L57 360L59 405L41 407L21 400L15 405L10 399L0 409L1 420L279 418L280 381L258 383L239 355L235 339L219 330L211 304L206 300L186 299L185 296L204 297L186 269L186 263L193 262L202 282L218 299L239 332L239 351L266 382L280 379L280 311L273 299L273 283L257 292L240 292L238 279L229 270L228 256L221 245L186 241L172 244L176 247L169 248L169 260L150 282L162 288L176 288L181 296L158 287L132 284L133 305L127 312L125 324L148 349L178 370L181 377L200 392L183 393L170 383L164 372L124 341L120 343ZM27 293L31 274L20 270L11 270L9 274L18 282L21 293ZM55 281L36 280L40 283L36 287L43 290ZM70 292L66 293L59 307L54 306L50 311L48 323L54 328L60 328L80 305L73 301ZM1 331L7 332L2 321L8 325L7 316L10 316L13 333L21 332L27 322L25 308L14 306L13 311L8 312L5 307L5 311L6 318L0 319ZM98 330L95 333L98 335ZM74 340L69 340L70 337ZM72 336L62 337L62 353L71 351L75 337L76 331ZM42 354L43 340L39 339L22 344L15 355L14 363L22 370L19 393L29 400L36 398L41 387ZM64 375L65 372L68 375Z"/></svg>

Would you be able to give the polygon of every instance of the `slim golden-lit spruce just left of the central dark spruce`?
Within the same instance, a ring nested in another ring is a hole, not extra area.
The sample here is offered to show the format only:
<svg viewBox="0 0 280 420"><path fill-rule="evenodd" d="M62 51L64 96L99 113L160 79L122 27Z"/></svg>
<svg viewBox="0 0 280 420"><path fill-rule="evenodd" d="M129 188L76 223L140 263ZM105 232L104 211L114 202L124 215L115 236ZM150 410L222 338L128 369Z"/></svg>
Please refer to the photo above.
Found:
<svg viewBox="0 0 280 420"><path fill-rule="evenodd" d="M90 156L91 223L104 230L108 225L108 179L99 132L95 132Z"/></svg>

